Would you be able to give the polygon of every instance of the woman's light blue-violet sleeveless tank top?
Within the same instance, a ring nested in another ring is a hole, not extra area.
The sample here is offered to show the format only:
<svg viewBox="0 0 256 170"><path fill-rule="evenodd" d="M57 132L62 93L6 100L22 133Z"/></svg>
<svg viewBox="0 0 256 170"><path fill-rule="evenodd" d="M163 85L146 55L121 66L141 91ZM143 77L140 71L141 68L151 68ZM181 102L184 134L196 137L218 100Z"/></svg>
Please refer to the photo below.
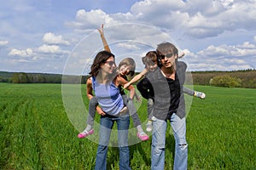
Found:
<svg viewBox="0 0 256 170"><path fill-rule="evenodd" d="M91 79L92 88L102 110L108 115L117 116L124 108L124 101L119 93L119 88L113 82L102 84L96 81L96 77L91 77Z"/></svg>

